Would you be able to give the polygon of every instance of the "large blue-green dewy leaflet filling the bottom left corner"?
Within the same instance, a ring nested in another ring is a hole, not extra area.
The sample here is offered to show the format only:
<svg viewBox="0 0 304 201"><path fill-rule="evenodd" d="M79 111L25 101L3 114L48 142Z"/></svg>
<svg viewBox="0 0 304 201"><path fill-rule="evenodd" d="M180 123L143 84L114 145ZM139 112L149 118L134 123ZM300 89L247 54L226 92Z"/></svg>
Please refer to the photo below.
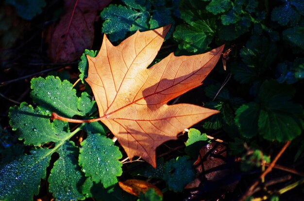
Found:
<svg viewBox="0 0 304 201"><path fill-rule="evenodd" d="M33 201L39 192L40 180L46 177L51 151L36 149L0 169L1 201Z"/></svg>

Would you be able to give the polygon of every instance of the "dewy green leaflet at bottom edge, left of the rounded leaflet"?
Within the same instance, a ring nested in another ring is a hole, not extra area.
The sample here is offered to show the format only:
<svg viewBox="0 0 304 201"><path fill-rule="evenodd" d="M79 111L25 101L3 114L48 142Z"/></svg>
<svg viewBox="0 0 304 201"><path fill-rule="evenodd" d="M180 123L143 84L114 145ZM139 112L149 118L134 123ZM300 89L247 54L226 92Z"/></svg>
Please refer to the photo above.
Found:
<svg viewBox="0 0 304 201"><path fill-rule="evenodd" d="M59 158L54 163L48 179L50 192L57 200L84 200L84 195L78 191L78 186L84 182L78 166L78 148L72 142L67 141L57 152Z"/></svg>

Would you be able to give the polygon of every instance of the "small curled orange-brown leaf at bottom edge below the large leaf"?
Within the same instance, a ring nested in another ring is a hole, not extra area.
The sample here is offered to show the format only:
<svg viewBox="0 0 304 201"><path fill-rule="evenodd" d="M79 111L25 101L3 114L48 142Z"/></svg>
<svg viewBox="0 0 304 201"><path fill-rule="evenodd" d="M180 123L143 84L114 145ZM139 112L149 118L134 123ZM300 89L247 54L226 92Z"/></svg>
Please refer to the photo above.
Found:
<svg viewBox="0 0 304 201"><path fill-rule="evenodd" d="M140 192L145 193L150 188L153 188L158 195L163 197L163 193L158 187L143 180L128 179L125 182L118 182L118 185L122 188L122 190L137 197L140 195Z"/></svg>

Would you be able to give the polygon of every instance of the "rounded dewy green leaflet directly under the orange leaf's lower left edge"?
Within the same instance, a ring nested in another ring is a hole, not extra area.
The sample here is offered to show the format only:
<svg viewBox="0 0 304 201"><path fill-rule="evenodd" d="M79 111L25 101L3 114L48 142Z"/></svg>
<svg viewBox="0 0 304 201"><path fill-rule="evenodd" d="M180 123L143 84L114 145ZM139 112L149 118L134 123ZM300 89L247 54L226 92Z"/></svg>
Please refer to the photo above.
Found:
<svg viewBox="0 0 304 201"><path fill-rule="evenodd" d="M118 160L122 155L114 142L99 134L88 134L81 145L79 164L85 176L96 183L101 182L105 188L115 185L122 173Z"/></svg>

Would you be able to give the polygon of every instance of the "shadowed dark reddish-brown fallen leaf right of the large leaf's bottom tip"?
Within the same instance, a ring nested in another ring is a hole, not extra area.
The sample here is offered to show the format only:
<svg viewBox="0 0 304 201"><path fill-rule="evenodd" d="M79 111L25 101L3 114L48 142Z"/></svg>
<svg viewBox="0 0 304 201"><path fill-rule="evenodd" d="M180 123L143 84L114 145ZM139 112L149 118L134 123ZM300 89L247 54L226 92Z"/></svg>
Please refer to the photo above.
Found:
<svg viewBox="0 0 304 201"><path fill-rule="evenodd" d="M227 147L218 142L203 146L194 162L196 178L185 188L189 189L189 198L208 200L209 195L219 196L223 192L232 192L240 180L227 156ZM191 200L187 199L187 200Z"/></svg>

